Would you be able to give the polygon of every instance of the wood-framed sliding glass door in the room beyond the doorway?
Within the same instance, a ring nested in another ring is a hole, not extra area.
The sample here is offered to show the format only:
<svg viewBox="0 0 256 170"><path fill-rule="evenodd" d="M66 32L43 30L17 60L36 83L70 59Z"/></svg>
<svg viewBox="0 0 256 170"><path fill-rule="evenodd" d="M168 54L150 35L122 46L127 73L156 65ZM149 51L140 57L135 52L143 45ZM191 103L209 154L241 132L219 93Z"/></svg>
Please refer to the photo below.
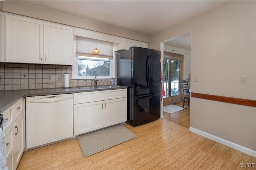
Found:
<svg viewBox="0 0 256 170"><path fill-rule="evenodd" d="M182 61L164 58L164 104L182 100Z"/></svg>

